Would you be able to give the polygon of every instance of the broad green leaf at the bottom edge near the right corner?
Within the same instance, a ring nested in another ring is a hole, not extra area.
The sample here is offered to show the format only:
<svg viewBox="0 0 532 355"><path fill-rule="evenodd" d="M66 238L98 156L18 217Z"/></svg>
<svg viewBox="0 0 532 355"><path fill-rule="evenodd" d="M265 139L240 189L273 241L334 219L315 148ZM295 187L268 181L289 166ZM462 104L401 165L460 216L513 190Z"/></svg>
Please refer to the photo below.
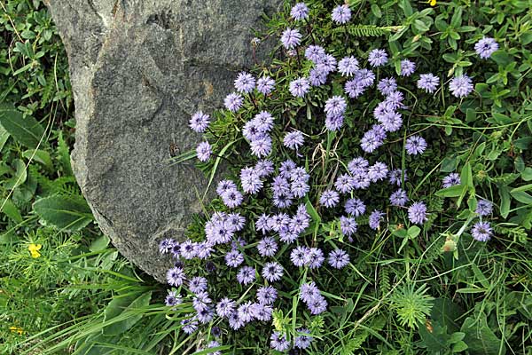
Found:
<svg viewBox="0 0 532 355"><path fill-rule="evenodd" d="M460 331L471 355L505 355L505 344L488 327L484 313L466 318Z"/></svg>

